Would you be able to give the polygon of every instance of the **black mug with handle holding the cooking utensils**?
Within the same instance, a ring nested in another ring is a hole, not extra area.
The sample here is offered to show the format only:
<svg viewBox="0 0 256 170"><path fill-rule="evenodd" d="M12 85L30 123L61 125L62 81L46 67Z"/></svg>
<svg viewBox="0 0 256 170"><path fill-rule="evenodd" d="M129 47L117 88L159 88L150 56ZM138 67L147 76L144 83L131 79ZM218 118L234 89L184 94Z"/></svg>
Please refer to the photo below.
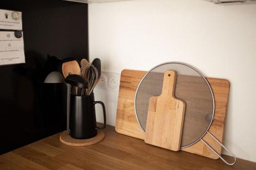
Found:
<svg viewBox="0 0 256 170"><path fill-rule="evenodd" d="M89 139L97 135L97 130L106 126L106 113L103 102L94 101L94 93L89 96L71 95L70 100L70 136L75 139ZM103 109L104 124L96 125L95 105L100 104Z"/></svg>

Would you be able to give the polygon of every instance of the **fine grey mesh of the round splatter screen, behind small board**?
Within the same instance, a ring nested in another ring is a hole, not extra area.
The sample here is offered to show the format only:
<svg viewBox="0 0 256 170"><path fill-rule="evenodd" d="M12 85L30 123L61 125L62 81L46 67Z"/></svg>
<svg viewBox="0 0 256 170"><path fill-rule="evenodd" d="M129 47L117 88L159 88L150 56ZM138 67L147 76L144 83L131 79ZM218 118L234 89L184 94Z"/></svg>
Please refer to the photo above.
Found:
<svg viewBox="0 0 256 170"><path fill-rule="evenodd" d="M177 72L175 96L186 104L181 140L181 147L184 148L201 138L210 126L214 101L208 84L195 69L181 63L159 65L144 77L135 97L136 115L144 132L148 102L151 96L161 94L166 70Z"/></svg>

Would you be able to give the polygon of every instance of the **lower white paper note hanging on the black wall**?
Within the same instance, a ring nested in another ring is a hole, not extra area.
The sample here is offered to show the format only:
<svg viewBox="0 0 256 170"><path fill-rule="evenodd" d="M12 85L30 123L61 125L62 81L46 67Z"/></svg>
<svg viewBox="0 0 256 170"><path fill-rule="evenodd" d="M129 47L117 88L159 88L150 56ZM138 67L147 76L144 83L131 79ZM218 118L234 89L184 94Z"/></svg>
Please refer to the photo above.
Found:
<svg viewBox="0 0 256 170"><path fill-rule="evenodd" d="M14 31L0 31L0 65L18 63L25 63L23 36L16 38Z"/></svg>

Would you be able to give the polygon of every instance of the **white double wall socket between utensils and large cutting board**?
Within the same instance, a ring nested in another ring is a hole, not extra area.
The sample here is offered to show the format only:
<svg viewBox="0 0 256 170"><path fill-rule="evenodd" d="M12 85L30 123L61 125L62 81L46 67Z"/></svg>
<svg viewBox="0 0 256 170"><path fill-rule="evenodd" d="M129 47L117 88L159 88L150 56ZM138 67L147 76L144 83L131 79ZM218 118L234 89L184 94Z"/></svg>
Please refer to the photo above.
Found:
<svg viewBox="0 0 256 170"><path fill-rule="evenodd" d="M101 76L95 88L119 92L120 73L101 71Z"/></svg>

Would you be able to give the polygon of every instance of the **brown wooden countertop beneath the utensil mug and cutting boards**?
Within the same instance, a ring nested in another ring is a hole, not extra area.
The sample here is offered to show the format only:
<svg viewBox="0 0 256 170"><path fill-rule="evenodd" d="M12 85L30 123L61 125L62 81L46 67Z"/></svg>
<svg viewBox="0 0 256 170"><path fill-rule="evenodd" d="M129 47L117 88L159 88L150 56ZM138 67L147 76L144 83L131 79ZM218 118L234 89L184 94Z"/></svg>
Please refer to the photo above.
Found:
<svg viewBox="0 0 256 170"><path fill-rule="evenodd" d="M228 166L220 159L154 147L112 126L104 132L103 141L88 147L65 145L60 133L47 137L0 155L0 169L256 169L256 163L242 159Z"/></svg>

